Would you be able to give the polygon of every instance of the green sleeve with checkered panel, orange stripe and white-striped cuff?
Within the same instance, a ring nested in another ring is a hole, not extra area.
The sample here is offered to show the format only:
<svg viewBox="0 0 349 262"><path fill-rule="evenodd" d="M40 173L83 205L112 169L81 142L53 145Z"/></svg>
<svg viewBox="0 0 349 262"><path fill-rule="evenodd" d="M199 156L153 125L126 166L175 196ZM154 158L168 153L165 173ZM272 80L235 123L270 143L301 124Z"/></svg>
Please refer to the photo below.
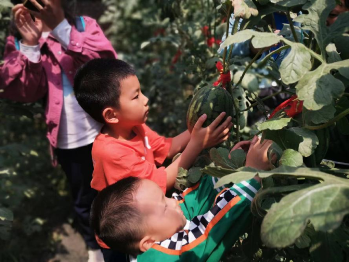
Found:
<svg viewBox="0 0 349 262"><path fill-rule="evenodd" d="M206 213L194 216L187 228L156 243L138 256L137 261L218 262L251 223L251 200L258 189L255 180L224 188Z"/></svg>

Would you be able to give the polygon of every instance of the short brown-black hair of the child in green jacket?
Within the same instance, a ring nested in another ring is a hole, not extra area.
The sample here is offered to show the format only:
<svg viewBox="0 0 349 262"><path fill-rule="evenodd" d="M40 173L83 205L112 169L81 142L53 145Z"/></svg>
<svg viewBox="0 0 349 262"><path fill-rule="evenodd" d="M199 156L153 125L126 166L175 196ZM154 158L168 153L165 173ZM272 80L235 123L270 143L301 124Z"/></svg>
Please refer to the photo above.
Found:
<svg viewBox="0 0 349 262"><path fill-rule="evenodd" d="M137 244L144 237L135 194L141 179L127 177L98 193L92 203L90 225L95 234L112 250L137 255Z"/></svg>

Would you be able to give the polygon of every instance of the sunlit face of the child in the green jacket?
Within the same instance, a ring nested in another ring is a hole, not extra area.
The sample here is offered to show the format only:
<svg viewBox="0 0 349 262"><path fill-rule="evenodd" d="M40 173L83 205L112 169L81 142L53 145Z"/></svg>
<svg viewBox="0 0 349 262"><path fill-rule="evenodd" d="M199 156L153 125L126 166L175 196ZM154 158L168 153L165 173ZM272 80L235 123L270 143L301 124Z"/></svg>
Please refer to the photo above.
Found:
<svg viewBox="0 0 349 262"><path fill-rule="evenodd" d="M155 182L143 179L136 201L145 223L146 235L155 242L170 238L184 228L186 219L177 201L165 197Z"/></svg>

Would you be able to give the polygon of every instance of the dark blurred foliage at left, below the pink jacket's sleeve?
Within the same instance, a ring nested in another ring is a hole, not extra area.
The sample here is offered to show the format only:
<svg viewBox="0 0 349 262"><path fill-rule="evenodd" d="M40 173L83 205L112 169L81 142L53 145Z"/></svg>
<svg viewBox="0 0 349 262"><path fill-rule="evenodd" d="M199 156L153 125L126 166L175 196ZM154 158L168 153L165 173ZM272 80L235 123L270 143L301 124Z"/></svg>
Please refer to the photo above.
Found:
<svg viewBox="0 0 349 262"><path fill-rule="evenodd" d="M0 261L48 260L71 211L65 175L51 166L40 105L0 100L0 112Z"/></svg>

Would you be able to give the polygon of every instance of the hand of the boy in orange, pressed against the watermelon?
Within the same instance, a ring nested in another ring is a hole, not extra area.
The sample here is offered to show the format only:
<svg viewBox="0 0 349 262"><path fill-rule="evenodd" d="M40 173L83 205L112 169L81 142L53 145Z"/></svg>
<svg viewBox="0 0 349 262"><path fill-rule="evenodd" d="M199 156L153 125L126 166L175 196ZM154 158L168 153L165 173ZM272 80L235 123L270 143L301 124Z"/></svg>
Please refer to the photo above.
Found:
<svg viewBox="0 0 349 262"><path fill-rule="evenodd" d="M229 116L219 125L225 115L226 113L222 112L208 127L202 127L207 115L203 114L200 116L191 132L190 142L201 149L205 149L227 140L233 123L231 122L231 116Z"/></svg>

